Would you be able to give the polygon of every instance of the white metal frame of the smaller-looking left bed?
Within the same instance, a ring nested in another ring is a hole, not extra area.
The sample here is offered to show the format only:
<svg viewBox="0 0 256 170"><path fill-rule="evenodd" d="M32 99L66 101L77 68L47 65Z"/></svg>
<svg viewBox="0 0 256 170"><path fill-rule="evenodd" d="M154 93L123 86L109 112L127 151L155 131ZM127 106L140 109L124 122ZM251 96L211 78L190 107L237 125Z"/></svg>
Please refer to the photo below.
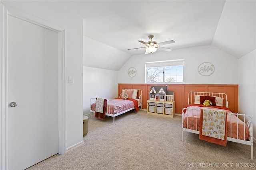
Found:
<svg viewBox="0 0 256 170"><path fill-rule="evenodd" d="M124 92L124 90L138 90L136 99L138 99L138 107L142 108L142 90L140 90L140 89L122 89L122 92ZM122 97L122 93L119 95L119 98L121 98L121 97ZM96 103L96 98L91 98L90 99L90 116L91 116L91 113L95 113L95 111L94 111L95 108L93 107L93 106L95 106L95 105L93 105L94 103ZM109 107L109 106L114 106L114 107ZM114 113L114 114L106 113L105 115L113 117L113 123L115 123L116 116L122 115L123 113L126 113L132 109L135 109L135 107L124 110L124 108L122 106L119 106L118 104L116 104L114 102L114 100L107 99L107 109L106 110L108 112Z"/></svg>

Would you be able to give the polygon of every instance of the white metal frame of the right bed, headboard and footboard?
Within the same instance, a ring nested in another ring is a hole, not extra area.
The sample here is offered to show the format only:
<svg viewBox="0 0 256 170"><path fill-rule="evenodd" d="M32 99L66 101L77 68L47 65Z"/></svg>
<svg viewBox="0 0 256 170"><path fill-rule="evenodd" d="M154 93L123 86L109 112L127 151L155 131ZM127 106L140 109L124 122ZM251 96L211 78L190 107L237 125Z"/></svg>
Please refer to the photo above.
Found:
<svg viewBox="0 0 256 170"><path fill-rule="evenodd" d="M188 104L193 104L194 103L194 99L195 99L195 96L196 95L200 95L200 96L218 96L218 97L221 97L221 98L224 98L224 102L223 104L226 104L224 105L225 107L228 107L228 101L227 101L227 95L225 93L214 93L214 92L189 92L188 93ZM183 127L183 119L184 119L184 110L185 109L190 109L193 113L193 111L196 111L196 117L194 117L194 119L196 119L196 127L198 126L197 122L198 122L198 119L200 118L200 116L197 116L197 113L200 113L200 109L191 109L191 108L183 108L182 109L182 141L183 141L183 131L186 131L186 132L190 132L190 133L196 133L199 135L199 130L192 130L193 128L193 117L191 117L191 129L188 129L188 119L187 119L187 127L184 128ZM236 143L241 143L241 144L245 144L245 145L250 145L251 146L251 159L253 159L253 136L252 136L252 130L253 130L253 127L252 127L252 118L248 115L245 115L245 114L238 114L238 113L228 113L232 115L236 115L237 117L237 129L236 131L238 132L238 117L242 117L242 120L244 122L244 140L242 139L238 139L238 135L237 135L237 138L232 138L232 121L230 122L230 137L227 137L227 141L232 141L232 142L236 142ZM193 114L192 114L193 115ZM246 121L246 119L248 119L248 121ZM234 123L234 122L233 122ZM250 133L250 139L249 141L247 141L245 139L245 125L248 126L248 129L249 129L249 133ZM198 129L198 128L196 128Z"/></svg>

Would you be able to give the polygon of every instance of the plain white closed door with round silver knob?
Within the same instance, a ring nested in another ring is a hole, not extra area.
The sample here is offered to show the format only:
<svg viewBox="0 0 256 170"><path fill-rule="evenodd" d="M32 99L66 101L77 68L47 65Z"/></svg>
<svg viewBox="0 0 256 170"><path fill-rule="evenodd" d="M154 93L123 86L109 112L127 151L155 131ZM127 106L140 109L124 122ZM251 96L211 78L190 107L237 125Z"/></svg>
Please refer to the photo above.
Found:
<svg viewBox="0 0 256 170"><path fill-rule="evenodd" d="M58 153L58 33L8 16L8 169Z"/></svg>

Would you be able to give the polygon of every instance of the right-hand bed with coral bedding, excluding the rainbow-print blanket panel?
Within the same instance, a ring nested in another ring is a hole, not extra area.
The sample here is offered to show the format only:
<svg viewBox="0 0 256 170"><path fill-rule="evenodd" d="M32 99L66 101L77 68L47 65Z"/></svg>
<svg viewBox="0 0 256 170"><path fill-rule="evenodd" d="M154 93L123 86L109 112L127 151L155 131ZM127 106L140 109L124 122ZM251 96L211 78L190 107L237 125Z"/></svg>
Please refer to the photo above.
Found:
<svg viewBox="0 0 256 170"><path fill-rule="evenodd" d="M212 106L202 106L203 102L207 99L211 100ZM251 159L253 159L252 118L245 114L232 113L228 109L227 95L224 93L189 92L188 106L182 109L182 141L183 131L202 136L200 134L200 127L203 124L201 116L202 111L206 108L213 111L224 111L227 114L225 140L250 145Z"/></svg>

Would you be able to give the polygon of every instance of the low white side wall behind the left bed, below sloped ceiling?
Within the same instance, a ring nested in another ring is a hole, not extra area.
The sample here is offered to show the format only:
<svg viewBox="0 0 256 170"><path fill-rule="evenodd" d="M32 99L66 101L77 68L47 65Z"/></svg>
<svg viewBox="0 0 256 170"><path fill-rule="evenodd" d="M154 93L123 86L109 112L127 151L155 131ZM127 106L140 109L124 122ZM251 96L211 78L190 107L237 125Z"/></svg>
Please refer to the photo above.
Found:
<svg viewBox="0 0 256 170"><path fill-rule="evenodd" d="M90 113L90 98L118 97L118 71L84 66L84 115Z"/></svg>

